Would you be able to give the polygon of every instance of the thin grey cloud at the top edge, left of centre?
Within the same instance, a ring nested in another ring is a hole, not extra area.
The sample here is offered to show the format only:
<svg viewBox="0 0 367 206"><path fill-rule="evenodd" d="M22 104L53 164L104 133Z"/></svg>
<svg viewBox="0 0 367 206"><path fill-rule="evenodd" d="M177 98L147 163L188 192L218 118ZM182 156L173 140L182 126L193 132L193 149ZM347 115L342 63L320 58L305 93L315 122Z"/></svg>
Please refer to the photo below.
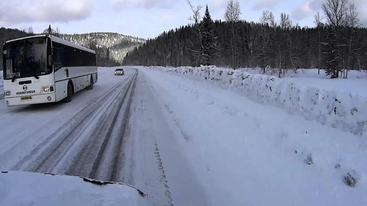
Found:
<svg viewBox="0 0 367 206"><path fill-rule="evenodd" d="M111 0L115 9L124 6L134 6L137 8L171 8L177 0Z"/></svg>

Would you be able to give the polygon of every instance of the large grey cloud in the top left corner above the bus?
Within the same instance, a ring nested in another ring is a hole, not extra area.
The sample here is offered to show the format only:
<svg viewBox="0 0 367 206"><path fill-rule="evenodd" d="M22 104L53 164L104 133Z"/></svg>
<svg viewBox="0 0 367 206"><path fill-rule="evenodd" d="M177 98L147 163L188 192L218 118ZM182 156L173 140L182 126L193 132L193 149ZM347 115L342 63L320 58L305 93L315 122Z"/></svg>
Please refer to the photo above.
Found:
<svg viewBox="0 0 367 206"><path fill-rule="evenodd" d="M11 0L0 2L0 22L69 22L88 18L95 0Z"/></svg>

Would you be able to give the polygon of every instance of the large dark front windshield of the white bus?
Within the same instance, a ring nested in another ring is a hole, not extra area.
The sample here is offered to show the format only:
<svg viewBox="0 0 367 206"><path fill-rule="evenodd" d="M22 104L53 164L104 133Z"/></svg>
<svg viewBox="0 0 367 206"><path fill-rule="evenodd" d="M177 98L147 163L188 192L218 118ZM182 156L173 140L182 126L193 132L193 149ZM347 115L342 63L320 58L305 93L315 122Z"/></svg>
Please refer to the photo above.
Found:
<svg viewBox="0 0 367 206"><path fill-rule="evenodd" d="M35 77L52 73L47 66L46 37L27 38L4 45L4 79Z"/></svg>

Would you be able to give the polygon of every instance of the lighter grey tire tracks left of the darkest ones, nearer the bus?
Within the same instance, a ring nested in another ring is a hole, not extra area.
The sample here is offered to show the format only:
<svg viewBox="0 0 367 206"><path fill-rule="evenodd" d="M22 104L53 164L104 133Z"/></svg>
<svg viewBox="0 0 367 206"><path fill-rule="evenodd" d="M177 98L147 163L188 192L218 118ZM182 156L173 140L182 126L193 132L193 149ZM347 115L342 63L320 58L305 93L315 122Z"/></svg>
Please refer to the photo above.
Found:
<svg viewBox="0 0 367 206"><path fill-rule="evenodd" d="M118 89L121 85L124 85L123 88L125 88L127 84L128 82L118 83L110 92L88 103L78 114L50 135L49 138L36 147L26 158L23 158L14 169L22 169L21 167L26 165L25 163L27 162L28 166L24 170L50 172L64 158L76 141L88 141L86 139L90 137L91 125L98 127L99 123L101 123L101 118L103 118L104 111L109 109L112 102L122 91ZM42 149L43 151L41 151Z"/></svg>

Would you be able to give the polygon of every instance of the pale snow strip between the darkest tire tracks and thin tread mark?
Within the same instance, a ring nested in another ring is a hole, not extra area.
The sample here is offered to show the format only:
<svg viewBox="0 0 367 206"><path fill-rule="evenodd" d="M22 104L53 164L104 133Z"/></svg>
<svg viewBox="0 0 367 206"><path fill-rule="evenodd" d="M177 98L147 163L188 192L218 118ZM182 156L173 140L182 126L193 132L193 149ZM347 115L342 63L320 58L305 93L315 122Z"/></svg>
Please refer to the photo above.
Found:
<svg viewBox="0 0 367 206"><path fill-rule="evenodd" d="M173 206L164 161L156 140L157 129L160 130L156 125L160 125L161 119L155 118L156 102L145 82L145 77L139 75L130 110L131 119L124 135L124 153L120 156L124 161L121 173L124 182L146 191L151 205Z"/></svg>

